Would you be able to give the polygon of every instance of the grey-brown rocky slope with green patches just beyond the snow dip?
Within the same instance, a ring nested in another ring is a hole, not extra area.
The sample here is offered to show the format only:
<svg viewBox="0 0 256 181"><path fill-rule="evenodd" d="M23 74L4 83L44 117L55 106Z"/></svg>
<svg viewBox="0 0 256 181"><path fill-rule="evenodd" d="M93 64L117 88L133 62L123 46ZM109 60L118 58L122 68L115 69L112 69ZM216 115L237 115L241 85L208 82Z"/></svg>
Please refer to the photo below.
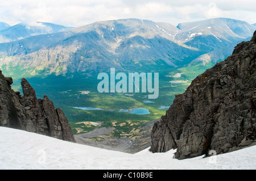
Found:
<svg viewBox="0 0 256 181"><path fill-rule="evenodd" d="M130 132L133 135L132 137L114 137L112 134L115 130L114 127L103 127L96 128L88 133L76 134L75 140L78 144L134 154L150 147L152 127L158 120L151 121L143 127L134 129L133 132Z"/></svg>

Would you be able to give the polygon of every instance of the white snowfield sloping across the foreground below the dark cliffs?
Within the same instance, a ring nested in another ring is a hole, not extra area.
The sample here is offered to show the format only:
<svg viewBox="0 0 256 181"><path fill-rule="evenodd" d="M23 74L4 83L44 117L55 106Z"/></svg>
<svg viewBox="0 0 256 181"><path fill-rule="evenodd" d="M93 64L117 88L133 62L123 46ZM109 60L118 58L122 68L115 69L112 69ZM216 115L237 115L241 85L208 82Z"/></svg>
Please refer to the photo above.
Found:
<svg viewBox="0 0 256 181"><path fill-rule="evenodd" d="M177 160L174 153L128 154L0 127L0 169L256 169L256 146L208 158Z"/></svg>

